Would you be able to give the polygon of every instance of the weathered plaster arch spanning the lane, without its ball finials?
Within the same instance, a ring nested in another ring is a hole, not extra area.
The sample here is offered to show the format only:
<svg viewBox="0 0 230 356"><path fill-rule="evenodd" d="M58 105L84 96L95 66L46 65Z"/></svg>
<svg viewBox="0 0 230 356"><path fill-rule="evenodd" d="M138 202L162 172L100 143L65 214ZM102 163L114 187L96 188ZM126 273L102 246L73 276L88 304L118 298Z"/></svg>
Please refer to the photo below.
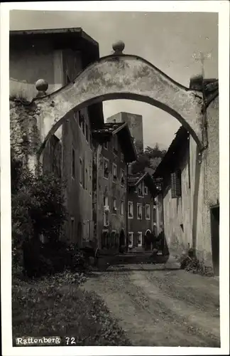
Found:
<svg viewBox="0 0 230 356"><path fill-rule="evenodd" d="M175 83L143 58L128 55L101 58L72 83L35 99L40 110L41 142L62 125L71 110L113 99L139 100L165 110L185 126L202 148L202 93Z"/></svg>

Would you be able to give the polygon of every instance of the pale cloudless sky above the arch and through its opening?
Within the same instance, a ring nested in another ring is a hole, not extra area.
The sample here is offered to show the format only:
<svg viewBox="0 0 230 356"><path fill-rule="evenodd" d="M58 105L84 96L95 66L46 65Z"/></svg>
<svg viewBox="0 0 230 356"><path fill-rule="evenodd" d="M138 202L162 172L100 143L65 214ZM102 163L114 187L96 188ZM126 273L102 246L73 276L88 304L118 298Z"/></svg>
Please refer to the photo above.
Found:
<svg viewBox="0 0 230 356"><path fill-rule="evenodd" d="M189 86L192 75L201 73L194 55L210 54L204 62L206 78L218 78L218 14L106 11L11 11L10 29L82 27L99 43L100 56L112 53L112 43L122 40L125 54L136 54L172 79ZM167 112L133 100L103 103L104 117L116 112L143 116L145 146L156 142L167 148L180 122Z"/></svg>

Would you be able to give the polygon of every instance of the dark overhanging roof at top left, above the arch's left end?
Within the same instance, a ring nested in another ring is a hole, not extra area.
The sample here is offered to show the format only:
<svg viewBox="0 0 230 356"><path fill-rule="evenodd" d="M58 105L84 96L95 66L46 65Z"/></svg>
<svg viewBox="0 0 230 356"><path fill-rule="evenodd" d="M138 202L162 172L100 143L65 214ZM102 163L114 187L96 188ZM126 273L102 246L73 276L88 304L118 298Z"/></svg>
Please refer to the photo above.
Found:
<svg viewBox="0 0 230 356"><path fill-rule="evenodd" d="M55 49L72 48L82 51L86 65L99 58L99 43L80 27L10 31L10 46L13 48L28 48L32 41L44 39Z"/></svg>

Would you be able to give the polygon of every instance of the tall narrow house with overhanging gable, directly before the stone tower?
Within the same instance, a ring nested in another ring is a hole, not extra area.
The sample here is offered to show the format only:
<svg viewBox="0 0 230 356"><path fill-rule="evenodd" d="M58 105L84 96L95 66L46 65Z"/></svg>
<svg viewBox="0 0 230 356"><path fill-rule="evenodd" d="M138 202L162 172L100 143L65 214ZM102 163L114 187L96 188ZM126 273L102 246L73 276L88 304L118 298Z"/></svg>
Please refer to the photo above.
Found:
<svg viewBox="0 0 230 356"><path fill-rule="evenodd" d="M127 167L136 159L128 125L106 123L93 131L94 222L97 246L103 252L126 246Z"/></svg>

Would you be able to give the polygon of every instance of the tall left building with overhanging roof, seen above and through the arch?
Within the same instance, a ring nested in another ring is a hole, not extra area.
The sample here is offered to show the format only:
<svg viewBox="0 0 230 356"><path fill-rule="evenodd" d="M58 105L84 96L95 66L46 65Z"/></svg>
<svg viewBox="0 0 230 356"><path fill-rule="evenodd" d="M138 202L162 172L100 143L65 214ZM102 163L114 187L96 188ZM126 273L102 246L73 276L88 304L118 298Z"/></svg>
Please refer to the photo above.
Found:
<svg viewBox="0 0 230 356"><path fill-rule="evenodd" d="M41 78L48 83L46 93L53 93L98 58L98 43L81 28L11 31L11 98L31 102L36 96L35 82ZM43 150L43 171L55 172L66 184L65 239L80 246L93 237L92 129L103 122L102 104L70 112ZM40 123L40 130L43 125L46 122Z"/></svg>

